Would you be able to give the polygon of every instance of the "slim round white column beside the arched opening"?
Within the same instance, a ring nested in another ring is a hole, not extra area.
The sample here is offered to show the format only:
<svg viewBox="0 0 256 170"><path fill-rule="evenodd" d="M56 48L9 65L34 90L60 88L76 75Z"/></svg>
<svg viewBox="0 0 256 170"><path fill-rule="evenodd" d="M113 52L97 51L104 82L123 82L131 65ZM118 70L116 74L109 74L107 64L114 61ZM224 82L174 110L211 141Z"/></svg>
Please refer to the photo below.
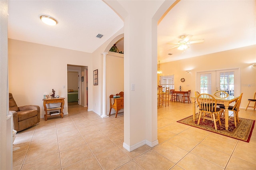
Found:
<svg viewBox="0 0 256 170"><path fill-rule="evenodd" d="M102 118L106 118L108 117L108 115L106 115L107 113L107 102L106 102L106 57L107 57L107 54L106 52L103 52L103 83L102 83L102 86L103 86L103 89L102 89L102 115L100 117Z"/></svg>

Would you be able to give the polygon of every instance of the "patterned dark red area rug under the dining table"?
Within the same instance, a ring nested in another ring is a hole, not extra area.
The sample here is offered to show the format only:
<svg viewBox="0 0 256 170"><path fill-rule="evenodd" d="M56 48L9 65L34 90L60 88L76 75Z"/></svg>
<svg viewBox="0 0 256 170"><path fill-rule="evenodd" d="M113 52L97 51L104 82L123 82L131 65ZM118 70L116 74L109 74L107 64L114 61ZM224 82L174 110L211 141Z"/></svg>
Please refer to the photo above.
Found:
<svg viewBox="0 0 256 170"><path fill-rule="evenodd" d="M208 130L210 132L222 134L224 136L228 136L245 142L250 141L250 137L252 136L252 130L255 124L254 120L239 118L239 123L236 125L236 127L234 121L229 120L228 130L225 130L225 119L221 119L222 126L220 126L220 124L217 122L217 130L215 130L213 121L205 120L203 122L203 119L201 119L199 125L197 125L198 119L193 122L193 115L177 122L183 123L185 125L190 125L192 127Z"/></svg>

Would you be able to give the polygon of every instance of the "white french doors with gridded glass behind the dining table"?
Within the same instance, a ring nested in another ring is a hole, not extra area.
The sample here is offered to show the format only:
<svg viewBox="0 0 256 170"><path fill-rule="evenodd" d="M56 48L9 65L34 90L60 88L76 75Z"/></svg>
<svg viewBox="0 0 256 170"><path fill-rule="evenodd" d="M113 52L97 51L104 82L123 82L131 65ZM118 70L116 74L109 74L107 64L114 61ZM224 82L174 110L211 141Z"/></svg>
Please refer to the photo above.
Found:
<svg viewBox="0 0 256 170"><path fill-rule="evenodd" d="M229 95L239 96L240 84L239 69L204 71L197 73L196 91L208 94L226 91Z"/></svg>

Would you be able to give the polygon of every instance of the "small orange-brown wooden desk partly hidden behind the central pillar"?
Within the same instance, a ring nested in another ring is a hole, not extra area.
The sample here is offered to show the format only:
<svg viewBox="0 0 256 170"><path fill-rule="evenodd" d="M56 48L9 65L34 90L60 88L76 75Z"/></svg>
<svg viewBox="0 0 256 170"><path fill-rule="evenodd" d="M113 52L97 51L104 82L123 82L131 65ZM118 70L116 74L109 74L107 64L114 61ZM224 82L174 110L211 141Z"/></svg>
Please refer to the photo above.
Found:
<svg viewBox="0 0 256 170"><path fill-rule="evenodd" d="M116 110L116 117L117 117L117 113L120 109L124 108L124 92L120 92L118 94L116 94L116 96L120 96L117 98L114 98L114 95L110 95L110 111L109 111L109 115L111 113L111 109L115 109ZM114 103L112 104L112 100L114 100Z"/></svg>

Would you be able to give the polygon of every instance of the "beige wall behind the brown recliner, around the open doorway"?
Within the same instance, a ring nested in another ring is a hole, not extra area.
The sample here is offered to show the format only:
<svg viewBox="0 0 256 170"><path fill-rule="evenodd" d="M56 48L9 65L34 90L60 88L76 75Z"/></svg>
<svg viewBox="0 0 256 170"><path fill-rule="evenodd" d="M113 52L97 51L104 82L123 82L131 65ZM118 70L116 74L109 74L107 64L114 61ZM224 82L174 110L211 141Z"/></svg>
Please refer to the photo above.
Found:
<svg viewBox="0 0 256 170"><path fill-rule="evenodd" d="M42 98L44 93L65 97L64 114L67 107L67 65L92 66L92 54L48 45L8 39L9 91L18 106L34 104L40 106L44 115ZM89 88L92 79L88 79ZM63 88L63 86L65 86ZM88 96L92 101L92 95ZM88 103L92 110L92 102Z"/></svg>

